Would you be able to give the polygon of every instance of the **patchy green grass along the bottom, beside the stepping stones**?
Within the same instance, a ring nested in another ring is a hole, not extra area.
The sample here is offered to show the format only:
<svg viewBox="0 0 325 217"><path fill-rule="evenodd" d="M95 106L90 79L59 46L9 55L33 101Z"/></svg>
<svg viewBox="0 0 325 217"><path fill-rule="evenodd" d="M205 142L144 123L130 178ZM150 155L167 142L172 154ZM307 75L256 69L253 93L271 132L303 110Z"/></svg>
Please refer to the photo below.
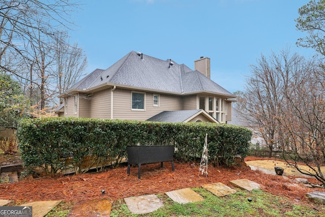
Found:
<svg viewBox="0 0 325 217"><path fill-rule="evenodd" d="M293 205L291 201L274 196L261 190L247 192L237 189L237 193L224 197L217 197L204 188L193 188L193 191L200 194L204 201L187 204L179 204L170 199L166 194L158 194L157 197L164 203L164 207L147 214L133 214L128 210L123 199L113 203L111 217L197 217L197 216L325 216L325 206L319 206L318 210L307 205ZM248 198L252 201L249 202ZM72 204L60 203L47 217L67 216Z"/></svg>

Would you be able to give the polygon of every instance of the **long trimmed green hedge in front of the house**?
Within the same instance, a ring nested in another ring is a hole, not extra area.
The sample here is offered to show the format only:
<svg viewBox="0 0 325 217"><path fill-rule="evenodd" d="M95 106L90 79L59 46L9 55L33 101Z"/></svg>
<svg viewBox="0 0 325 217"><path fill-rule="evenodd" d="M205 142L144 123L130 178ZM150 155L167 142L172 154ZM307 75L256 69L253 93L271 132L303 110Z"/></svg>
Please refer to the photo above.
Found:
<svg viewBox="0 0 325 217"><path fill-rule="evenodd" d="M117 166L127 157L126 146L138 144L172 144L176 159L194 161L202 156L206 134L209 161L232 166L236 154L247 156L251 131L226 124L52 117L24 119L17 130L24 166L47 174L67 167L76 173L100 170L108 161Z"/></svg>

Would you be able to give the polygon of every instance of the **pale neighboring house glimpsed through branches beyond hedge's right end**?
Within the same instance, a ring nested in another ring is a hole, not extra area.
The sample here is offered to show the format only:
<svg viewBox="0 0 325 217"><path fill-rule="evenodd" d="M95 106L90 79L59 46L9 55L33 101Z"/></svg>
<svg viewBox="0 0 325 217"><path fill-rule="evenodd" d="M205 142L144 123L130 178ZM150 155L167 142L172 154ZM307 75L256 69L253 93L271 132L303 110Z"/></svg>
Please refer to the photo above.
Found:
<svg viewBox="0 0 325 217"><path fill-rule="evenodd" d="M266 145L265 140L263 139L261 133L259 132L258 126L253 125L252 121L249 121L240 110L237 108L232 108L232 120L228 121L231 125L237 125L241 127L248 128L252 131L253 135L250 140L250 143L255 147L263 147Z"/></svg>

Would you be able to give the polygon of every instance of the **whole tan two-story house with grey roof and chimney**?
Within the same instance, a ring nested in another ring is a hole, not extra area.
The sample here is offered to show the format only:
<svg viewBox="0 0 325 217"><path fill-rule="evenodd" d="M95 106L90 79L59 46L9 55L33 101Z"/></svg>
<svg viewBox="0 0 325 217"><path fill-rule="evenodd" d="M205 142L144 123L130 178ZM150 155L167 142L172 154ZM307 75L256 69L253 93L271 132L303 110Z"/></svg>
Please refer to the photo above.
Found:
<svg viewBox="0 0 325 217"><path fill-rule="evenodd" d="M58 116L169 122L230 121L235 95L210 79L210 58L194 71L172 59L131 51L58 96Z"/></svg>

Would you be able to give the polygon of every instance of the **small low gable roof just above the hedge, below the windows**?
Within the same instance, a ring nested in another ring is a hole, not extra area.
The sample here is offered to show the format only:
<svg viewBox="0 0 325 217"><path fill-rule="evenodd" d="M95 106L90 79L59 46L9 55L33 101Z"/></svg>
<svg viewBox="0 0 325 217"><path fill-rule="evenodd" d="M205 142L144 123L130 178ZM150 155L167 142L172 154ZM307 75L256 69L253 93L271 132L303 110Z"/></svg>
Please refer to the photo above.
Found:
<svg viewBox="0 0 325 217"><path fill-rule="evenodd" d="M203 109L196 110L181 110L181 111L163 111L159 114L156 114L149 119L148 121L158 121L158 122L188 122L199 114L203 114L206 116L211 122L217 123L218 121L211 117L206 111Z"/></svg>

